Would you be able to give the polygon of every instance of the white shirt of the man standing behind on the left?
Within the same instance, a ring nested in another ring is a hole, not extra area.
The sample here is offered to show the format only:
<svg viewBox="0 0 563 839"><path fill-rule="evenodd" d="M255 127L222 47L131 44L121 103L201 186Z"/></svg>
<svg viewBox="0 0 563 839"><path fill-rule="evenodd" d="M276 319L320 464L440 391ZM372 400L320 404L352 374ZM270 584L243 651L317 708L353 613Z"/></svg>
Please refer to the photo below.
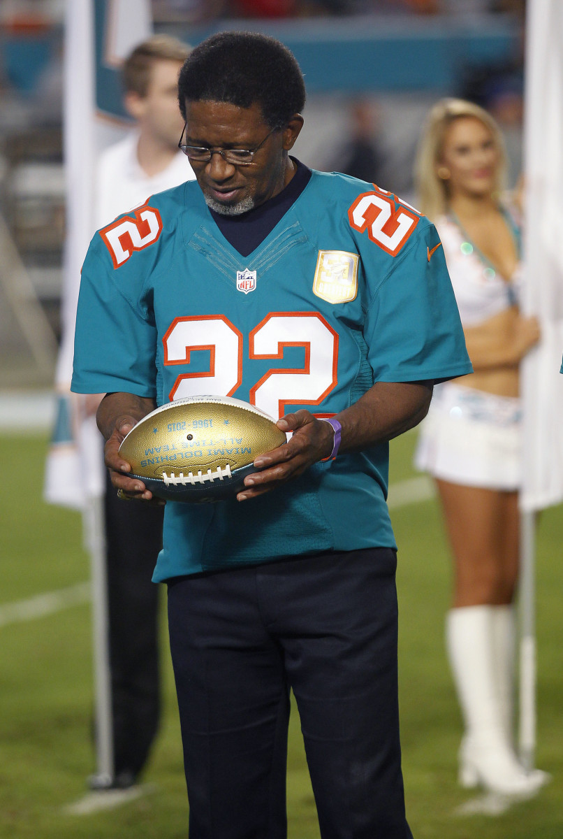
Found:
<svg viewBox="0 0 563 839"><path fill-rule="evenodd" d="M178 149L170 164L158 175L147 175L137 159L137 132L127 134L119 143L105 149L96 170L96 229L116 216L147 201L155 192L169 190L194 180L189 159Z"/></svg>

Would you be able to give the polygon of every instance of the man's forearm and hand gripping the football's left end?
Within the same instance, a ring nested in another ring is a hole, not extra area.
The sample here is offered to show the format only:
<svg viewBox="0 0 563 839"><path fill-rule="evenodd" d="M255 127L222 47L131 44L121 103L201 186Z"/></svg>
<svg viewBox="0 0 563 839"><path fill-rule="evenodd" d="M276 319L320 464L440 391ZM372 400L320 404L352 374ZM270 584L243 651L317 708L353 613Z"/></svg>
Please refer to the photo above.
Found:
<svg viewBox="0 0 563 839"><path fill-rule="evenodd" d="M163 504L161 498L153 498L152 492L142 481L127 476L127 472L131 472L131 464L119 455L119 447L133 425L137 425L139 420L155 408L154 399L134 396L132 393L107 393L101 400L96 421L106 438L104 460L110 470L111 483L117 490L121 490L121 498L137 498Z"/></svg>

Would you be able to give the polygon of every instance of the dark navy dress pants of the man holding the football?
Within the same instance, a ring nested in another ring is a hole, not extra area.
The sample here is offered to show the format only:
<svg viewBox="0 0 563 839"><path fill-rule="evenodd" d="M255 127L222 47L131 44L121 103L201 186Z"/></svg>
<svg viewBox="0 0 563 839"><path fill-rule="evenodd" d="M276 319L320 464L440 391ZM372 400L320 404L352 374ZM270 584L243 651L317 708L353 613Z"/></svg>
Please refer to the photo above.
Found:
<svg viewBox="0 0 563 839"><path fill-rule="evenodd" d="M168 582L190 839L286 839L290 688L323 839L412 839L394 550Z"/></svg>

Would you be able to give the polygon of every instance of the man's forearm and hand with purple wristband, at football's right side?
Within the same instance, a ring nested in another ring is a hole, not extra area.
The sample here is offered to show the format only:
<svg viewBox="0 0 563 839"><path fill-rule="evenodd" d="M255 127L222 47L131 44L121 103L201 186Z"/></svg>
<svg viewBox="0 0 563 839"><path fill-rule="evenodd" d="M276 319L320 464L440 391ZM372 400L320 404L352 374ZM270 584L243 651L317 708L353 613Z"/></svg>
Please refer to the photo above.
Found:
<svg viewBox="0 0 563 839"><path fill-rule="evenodd" d="M426 416L431 396L432 382L375 383L358 402L336 414L342 425L339 451L361 451L413 428ZM287 414L276 425L282 431L293 431L292 439L286 446L256 457L254 465L262 471L245 477L238 501L256 498L298 477L333 451L332 426L309 411Z"/></svg>

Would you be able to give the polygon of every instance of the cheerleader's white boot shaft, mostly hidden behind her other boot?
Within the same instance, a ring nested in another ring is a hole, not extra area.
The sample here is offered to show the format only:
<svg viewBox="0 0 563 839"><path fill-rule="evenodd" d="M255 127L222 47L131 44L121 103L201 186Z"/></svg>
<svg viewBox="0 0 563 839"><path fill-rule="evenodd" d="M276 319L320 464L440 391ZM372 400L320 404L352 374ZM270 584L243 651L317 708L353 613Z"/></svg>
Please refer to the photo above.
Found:
<svg viewBox="0 0 563 839"><path fill-rule="evenodd" d="M514 606L493 606L493 664L497 680L498 704L509 743L514 740L514 663L516 624Z"/></svg>

